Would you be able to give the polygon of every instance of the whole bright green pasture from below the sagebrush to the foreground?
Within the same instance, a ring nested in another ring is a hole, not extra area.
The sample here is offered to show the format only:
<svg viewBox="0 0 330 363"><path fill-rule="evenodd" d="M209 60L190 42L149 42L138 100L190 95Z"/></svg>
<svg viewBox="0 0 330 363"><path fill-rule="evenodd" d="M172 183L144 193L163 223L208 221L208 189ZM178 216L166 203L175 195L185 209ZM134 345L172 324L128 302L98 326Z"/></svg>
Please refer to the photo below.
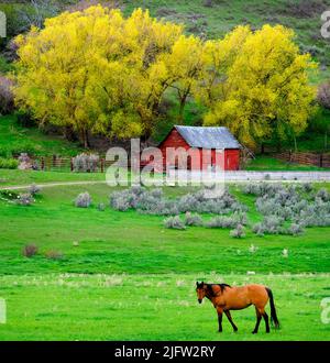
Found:
<svg viewBox="0 0 330 363"><path fill-rule="evenodd" d="M16 179L24 174L10 173ZM250 221L260 220L254 197L231 189L250 207ZM85 190L94 206L75 208L73 199ZM107 204L112 191L103 184L62 186L45 188L31 207L0 201L0 298L8 305L0 340L330 339L330 326L320 320L320 301L329 296L329 228L298 238L257 238L249 230L241 240L229 230L167 230L163 217L99 211L97 204ZM40 249L34 257L21 254L28 243ZM46 258L50 250L64 257ZM268 285L282 329L265 334L262 324L260 334L251 334L255 317L249 308L233 312L237 334L224 321L220 336L211 304L197 304L196 279Z"/></svg>

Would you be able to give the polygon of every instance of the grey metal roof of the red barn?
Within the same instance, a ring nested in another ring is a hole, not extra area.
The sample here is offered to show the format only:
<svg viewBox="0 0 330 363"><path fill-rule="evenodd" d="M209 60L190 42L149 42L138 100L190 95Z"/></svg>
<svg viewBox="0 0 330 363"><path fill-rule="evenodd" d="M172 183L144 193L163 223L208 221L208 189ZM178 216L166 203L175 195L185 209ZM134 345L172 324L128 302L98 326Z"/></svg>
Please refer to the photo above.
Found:
<svg viewBox="0 0 330 363"><path fill-rule="evenodd" d="M200 128L175 125L191 147L241 148L241 144L227 128Z"/></svg>

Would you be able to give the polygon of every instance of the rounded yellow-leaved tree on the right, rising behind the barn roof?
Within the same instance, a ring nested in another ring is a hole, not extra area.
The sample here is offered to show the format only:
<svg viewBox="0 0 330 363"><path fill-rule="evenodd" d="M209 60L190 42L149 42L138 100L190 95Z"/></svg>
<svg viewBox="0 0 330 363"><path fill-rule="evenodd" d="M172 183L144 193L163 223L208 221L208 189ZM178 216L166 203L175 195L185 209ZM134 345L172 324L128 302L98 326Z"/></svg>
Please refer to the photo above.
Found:
<svg viewBox="0 0 330 363"><path fill-rule="evenodd" d="M216 82L221 91L210 88L205 124L227 125L251 147L274 133L295 138L312 112L315 89L308 85L307 72L315 65L308 54L299 54L292 30L264 25L245 34L240 52L226 66L223 85Z"/></svg>

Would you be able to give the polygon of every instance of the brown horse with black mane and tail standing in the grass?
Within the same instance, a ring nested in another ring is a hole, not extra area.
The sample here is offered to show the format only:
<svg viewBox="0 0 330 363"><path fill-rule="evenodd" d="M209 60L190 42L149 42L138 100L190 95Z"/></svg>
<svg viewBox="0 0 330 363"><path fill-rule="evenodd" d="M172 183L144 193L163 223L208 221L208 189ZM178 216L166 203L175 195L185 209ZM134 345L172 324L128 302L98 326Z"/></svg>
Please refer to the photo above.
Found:
<svg viewBox="0 0 330 363"><path fill-rule="evenodd" d="M234 331L238 327L232 321L230 310L241 310L254 305L256 312L256 324L253 334L257 333L258 324L262 317L265 320L266 332L270 332L268 316L265 311L265 306L271 304L271 320L275 324L275 329L279 328L277 319L274 297L272 290L264 285L246 285L246 286L230 286L227 284L205 284L196 283L196 292L198 302L207 297L213 304L218 312L219 332L222 331L222 314L224 312Z"/></svg>

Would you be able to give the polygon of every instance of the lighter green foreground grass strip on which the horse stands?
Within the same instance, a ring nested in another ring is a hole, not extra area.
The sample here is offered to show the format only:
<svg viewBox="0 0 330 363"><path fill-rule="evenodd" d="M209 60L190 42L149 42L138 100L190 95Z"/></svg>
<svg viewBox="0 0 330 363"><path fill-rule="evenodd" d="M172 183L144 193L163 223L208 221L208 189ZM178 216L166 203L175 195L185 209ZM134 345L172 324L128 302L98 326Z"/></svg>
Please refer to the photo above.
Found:
<svg viewBox="0 0 330 363"><path fill-rule="evenodd" d="M220 271L221 268L218 268ZM258 334L252 307L233 311L237 333L209 301L197 302L198 276L232 284L272 287L280 330ZM0 277L8 323L0 340L329 340L320 300L329 296L329 275L119 274L23 275Z"/></svg>

